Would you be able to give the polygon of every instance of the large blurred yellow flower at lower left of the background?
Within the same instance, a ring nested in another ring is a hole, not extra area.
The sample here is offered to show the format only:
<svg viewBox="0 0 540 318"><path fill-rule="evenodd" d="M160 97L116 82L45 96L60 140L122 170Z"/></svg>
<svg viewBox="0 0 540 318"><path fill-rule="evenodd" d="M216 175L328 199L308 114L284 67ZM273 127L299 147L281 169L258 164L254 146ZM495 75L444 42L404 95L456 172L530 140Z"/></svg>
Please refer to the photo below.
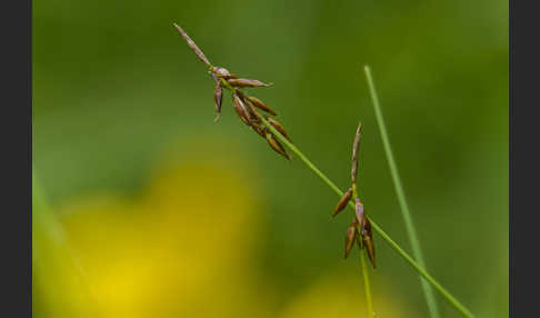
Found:
<svg viewBox="0 0 540 318"><path fill-rule="evenodd" d="M182 162L161 165L134 199L94 196L58 211L70 248L41 242L37 256L51 316L261 311L264 297L250 265L259 230L249 181L214 161Z"/></svg>

